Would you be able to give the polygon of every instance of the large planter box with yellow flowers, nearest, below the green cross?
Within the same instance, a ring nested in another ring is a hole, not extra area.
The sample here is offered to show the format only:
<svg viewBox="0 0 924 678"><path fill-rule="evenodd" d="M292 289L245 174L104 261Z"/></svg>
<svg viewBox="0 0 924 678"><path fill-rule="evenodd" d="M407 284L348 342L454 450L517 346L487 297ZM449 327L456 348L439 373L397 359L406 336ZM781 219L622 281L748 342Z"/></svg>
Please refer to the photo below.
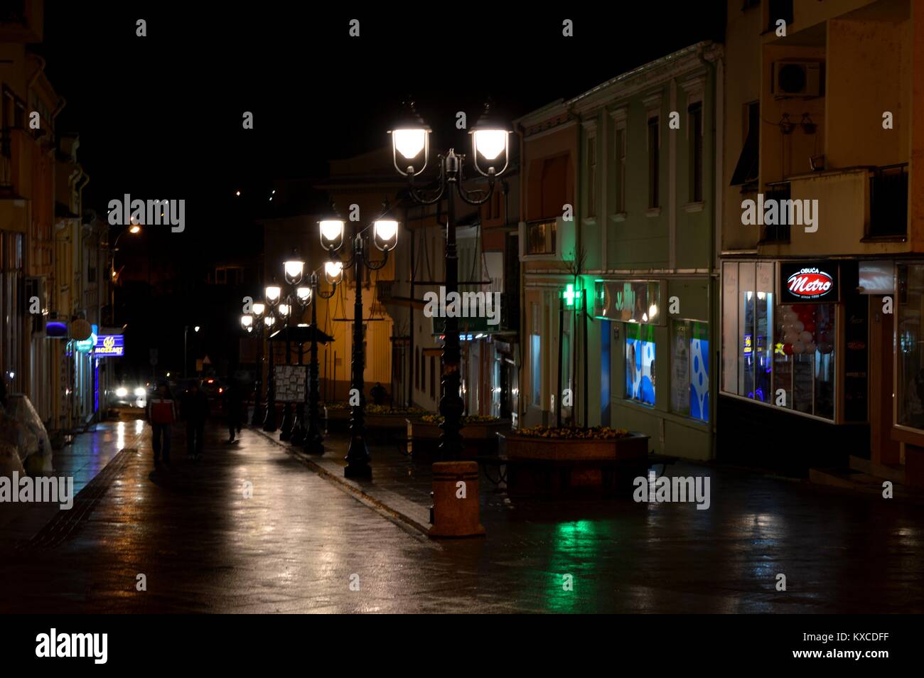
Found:
<svg viewBox="0 0 924 678"><path fill-rule="evenodd" d="M507 493L512 496L632 496L632 481L647 476L649 437L630 433L609 440L505 436Z"/></svg>

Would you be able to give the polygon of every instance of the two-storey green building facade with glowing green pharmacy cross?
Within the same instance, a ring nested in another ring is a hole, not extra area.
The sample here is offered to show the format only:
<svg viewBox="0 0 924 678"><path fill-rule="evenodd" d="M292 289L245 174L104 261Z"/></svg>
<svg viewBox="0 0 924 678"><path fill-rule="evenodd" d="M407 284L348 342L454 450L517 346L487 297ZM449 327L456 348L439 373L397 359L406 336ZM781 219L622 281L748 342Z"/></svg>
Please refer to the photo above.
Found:
<svg viewBox="0 0 924 678"><path fill-rule="evenodd" d="M698 43L519 121L527 423L711 458L721 54Z"/></svg>

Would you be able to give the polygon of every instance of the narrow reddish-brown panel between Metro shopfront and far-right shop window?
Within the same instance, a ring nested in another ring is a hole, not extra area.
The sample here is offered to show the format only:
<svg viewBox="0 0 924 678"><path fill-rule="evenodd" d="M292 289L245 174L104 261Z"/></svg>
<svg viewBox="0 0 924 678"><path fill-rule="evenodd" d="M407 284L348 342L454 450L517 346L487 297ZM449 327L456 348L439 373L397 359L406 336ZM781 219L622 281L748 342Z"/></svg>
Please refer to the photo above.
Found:
<svg viewBox="0 0 924 678"><path fill-rule="evenodd" d="M892 440L894 314L883 313L885 297L869 297L869 446L873 464L898 464Z"/></svg>

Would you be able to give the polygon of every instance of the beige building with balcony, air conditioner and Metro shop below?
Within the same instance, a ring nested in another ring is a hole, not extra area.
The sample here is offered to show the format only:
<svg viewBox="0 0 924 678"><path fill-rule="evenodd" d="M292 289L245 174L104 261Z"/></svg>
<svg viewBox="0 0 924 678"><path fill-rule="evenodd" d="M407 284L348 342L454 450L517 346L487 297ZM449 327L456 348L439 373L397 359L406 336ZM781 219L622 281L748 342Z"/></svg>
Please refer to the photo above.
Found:
<svg viewBox="0 0 924 678"><path fill-rule="evenodd" d="M720 459L924 482L921 9L728 4Z"/></svg>

